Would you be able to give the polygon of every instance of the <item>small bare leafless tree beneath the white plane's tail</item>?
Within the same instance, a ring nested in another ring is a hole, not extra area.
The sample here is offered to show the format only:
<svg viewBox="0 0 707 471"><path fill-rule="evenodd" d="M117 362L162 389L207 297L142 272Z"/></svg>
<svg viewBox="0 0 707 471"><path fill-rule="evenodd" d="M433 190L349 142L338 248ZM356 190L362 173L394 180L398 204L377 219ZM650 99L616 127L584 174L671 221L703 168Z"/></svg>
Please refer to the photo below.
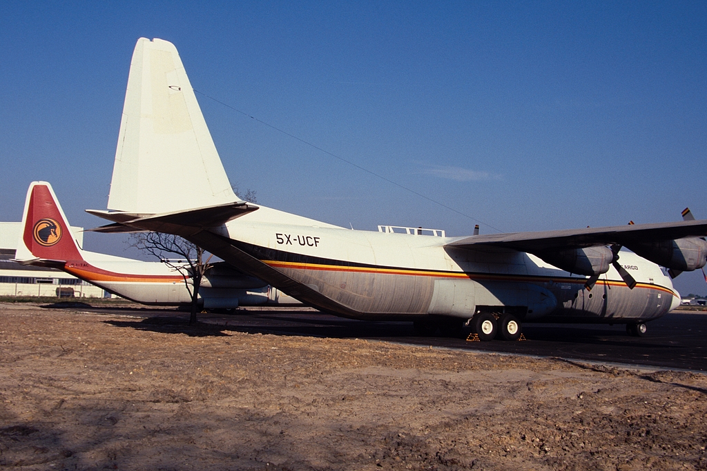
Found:
<svg viewBox="0 0 707 471"><path fill-rule="evenodd" d="M204 273L211 268L211 264L209 264L211 256L204 261L204 249L192 244L187 239L163 232L135 232L130 234L128 244L136 249L146 251L182 275L187 291L192 297L189 324L196 323L199 310L199 286L201 278L204 278ZM174 258L175 255L177 258Z"/></svg>

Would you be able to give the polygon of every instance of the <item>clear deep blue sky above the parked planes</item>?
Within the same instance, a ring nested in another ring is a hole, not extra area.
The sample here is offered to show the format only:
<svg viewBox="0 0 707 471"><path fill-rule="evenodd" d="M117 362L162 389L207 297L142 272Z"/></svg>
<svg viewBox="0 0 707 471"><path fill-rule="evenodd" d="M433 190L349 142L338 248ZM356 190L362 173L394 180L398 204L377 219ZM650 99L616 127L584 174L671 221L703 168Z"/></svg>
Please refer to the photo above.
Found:
<svg viewBox="0 0 707 471"><path fill-rule="evenodd" d="M0 15L0 220L44 179L103 223L138 37L177 46L232 184L273 208L450 235L707 217L704 2L57 3Z"/></svg>

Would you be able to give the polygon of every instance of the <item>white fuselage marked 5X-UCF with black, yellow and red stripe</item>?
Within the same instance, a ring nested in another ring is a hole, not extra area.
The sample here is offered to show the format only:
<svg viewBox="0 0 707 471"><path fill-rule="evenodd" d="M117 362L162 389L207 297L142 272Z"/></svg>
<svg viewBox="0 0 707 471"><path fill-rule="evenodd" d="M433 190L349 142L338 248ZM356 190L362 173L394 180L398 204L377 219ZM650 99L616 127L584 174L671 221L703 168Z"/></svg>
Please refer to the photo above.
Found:
<svg viewBox="0 0 707 471"><path fill-rule="evenodd" d="M445 247L452 237L356 231L305 218L268 221L278 213L260 207L192 240L312 306L350 318L467 319L489 311L525 321L629 323L679 304L666 273L628 251L621 263L636 287L629 290L611 268L590 291L588 277L531 254L455 249Z"/></svg>

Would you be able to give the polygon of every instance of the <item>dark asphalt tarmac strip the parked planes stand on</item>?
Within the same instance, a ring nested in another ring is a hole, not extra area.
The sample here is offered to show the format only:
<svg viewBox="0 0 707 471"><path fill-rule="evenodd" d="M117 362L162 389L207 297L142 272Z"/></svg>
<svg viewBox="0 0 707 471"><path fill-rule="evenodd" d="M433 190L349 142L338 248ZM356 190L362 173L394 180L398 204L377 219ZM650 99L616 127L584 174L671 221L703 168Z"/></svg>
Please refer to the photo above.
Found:
<svg viewBox="0 0 707 471"><path fill-rule="evenodd" d="M158 328L158 318L186 319L187 314L164 309L101 309L105 312L146 319L145 328ZM239 309L235 314L200 314L204 323L227 330L320 338L361 338L412 345L464 350L558 357L569 361L609 362L658 366L668 369L707 371L707 313L675 311L647 324L644 337L626 334L624 325L525 323L526 340L469 342L463 338L419 337L410 322L354 321L312 309ZM165 319L168 321L168 319ZM148 327L151 326L151 327Z"/></svg>

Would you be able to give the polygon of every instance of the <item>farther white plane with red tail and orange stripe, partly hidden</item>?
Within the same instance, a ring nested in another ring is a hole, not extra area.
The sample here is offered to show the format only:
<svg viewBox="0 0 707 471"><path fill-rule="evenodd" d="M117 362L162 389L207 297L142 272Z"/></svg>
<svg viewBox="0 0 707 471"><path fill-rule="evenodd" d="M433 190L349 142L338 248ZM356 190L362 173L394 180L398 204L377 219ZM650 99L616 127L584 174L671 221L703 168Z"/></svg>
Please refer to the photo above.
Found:
<svg viewBox="0 0 707 471"><path fill-rule="evenodd" d="M81 249L52 186L46 181L30 184L22 228L15 261L23 265L59 268L141 304L186 306L192 302L182 274L165 263ZM191 282L191 278L187 281ZM201 280L199 305L204 309L234 309L261 304L299 302L224 262L214 263Z"/></svg>

